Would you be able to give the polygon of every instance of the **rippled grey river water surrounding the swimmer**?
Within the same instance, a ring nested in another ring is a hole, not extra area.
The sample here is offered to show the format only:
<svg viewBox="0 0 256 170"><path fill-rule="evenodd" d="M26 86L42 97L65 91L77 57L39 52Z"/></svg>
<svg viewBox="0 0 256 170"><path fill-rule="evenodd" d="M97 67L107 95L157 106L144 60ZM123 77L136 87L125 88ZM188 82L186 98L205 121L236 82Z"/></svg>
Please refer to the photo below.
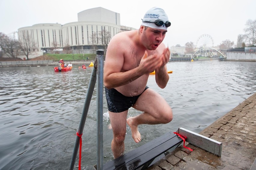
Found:
<svg viewBox="0 0 256 170"><path fill-rule="evenodd" d="M179 127L199 133L256 92L256 62L169 62L167 68L173 73L166 88L156 85L154 75L149 76L148 86L172 107L172 122L140 125L139 144L127 127L125 151ZM53 66L0 68L1 170L69 169L91 71L78 66L69 72L54 72ZM105 163L113 155L103 97ZM128 116L140 113L132 108ZM96 114L95 87L82 136L82 169L97 163Z"/></svg>

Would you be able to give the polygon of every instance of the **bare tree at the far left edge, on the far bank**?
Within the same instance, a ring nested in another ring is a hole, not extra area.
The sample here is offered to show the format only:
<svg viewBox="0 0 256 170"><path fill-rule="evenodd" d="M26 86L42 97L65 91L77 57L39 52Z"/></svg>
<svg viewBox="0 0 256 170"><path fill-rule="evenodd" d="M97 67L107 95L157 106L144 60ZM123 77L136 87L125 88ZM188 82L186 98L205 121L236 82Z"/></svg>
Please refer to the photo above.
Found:
<svg viewBox="0 0 256 170"><path fill-rule="evenodd" d="M0 32L0 47L2 53L5 53L8 57L15 58L14 50L18 48L18 41L14 37L8 37Z"/></svg>

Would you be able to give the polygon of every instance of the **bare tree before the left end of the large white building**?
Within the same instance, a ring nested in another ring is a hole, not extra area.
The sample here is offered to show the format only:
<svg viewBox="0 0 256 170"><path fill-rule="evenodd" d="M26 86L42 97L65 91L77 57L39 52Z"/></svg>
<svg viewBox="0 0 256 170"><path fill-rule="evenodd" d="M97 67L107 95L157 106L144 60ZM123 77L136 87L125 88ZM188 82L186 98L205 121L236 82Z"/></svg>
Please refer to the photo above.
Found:
<svg viewBox="0 0 256 170"><path fill-rule="evenodd" d="M19 46L22 53L29 59L29 55L35 52L37 48L35 42L32 40L32 36L28 31L22 31L19 37Z"/></svg>

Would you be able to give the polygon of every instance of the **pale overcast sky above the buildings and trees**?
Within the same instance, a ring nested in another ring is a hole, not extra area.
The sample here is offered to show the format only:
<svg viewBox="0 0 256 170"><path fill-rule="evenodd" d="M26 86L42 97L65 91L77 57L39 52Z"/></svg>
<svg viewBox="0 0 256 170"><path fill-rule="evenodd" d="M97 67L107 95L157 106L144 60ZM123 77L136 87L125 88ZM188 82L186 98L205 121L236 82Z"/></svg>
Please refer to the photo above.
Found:
<svg viewBox="0 0 256 170"><path fill-rule="evenodd" d="M94 7L120 13L121 25L139 28L149 8L161 7L172 23L163 41L169 46L196 44L203 34L215 46L227 39L236 44L246 21L256 19L256 0L0 0L0 7L0 32L5 34L39 23L76 22L77 13Z"/></svg>

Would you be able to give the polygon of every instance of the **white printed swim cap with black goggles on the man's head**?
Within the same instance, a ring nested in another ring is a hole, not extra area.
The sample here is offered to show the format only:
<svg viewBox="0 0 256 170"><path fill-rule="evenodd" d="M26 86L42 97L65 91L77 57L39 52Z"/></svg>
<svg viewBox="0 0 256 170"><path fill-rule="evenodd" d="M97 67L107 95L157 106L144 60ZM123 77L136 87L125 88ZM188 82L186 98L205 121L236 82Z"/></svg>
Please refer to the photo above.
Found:
<svg viewBox="0 0 256 170"><path fill-rule="evenodd" d="M156 20L162 20L163 24L160 26L157 26L154 23ZM153 7L145 13L141 25L150 27L150 28L167 30L167 27L171 25L171 22L166 23L167 21L168 21L168 16L166 15L165 11L162 8Z"/></svg>

